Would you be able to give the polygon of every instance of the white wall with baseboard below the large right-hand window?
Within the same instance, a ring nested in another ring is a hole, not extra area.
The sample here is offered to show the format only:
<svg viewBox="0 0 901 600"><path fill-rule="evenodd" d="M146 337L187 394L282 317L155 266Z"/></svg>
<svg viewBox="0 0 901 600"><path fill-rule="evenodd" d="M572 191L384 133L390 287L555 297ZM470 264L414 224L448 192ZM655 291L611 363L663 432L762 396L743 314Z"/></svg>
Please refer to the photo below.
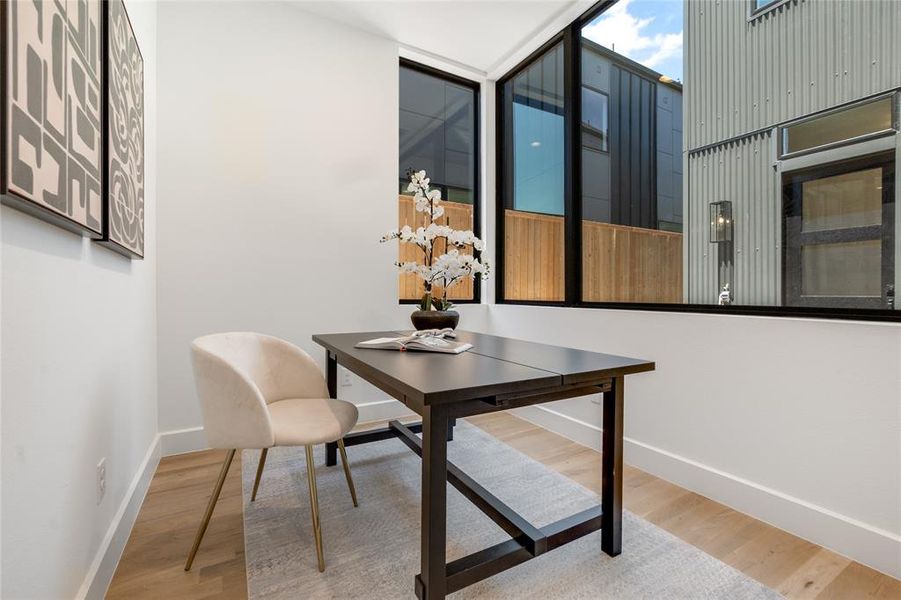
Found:
<svg viewBox="0 0 901 600"><path fill-rule="evenodd" d="M901 575L898 325L510 305L489 322L655 360L626 380L626 462ZM520 414L599 447L590 398Z"/></svg>

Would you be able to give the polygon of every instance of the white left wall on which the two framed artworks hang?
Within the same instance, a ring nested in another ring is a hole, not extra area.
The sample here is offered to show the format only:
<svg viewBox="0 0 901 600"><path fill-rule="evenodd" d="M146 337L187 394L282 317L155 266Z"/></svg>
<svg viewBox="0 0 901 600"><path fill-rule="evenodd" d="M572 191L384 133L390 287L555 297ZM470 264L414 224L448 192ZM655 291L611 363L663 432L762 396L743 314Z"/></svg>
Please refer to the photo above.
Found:
<svg viewBox="0 0 901 600"><path fill-rule="evenodd" d="M4 598L71 598L86 579L82 592L102 593L124 543L115 526L153 466L156 5L127 8L145 65L145 260L0 209Z"/></svg>

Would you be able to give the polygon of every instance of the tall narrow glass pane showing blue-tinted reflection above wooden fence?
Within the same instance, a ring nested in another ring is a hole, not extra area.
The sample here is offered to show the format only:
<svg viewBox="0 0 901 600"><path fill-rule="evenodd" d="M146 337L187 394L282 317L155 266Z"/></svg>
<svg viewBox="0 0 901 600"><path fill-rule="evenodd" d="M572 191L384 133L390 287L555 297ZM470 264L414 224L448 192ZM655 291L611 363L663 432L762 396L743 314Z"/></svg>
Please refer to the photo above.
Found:
<svg viewBox="0 0 901 600"><path fill-rule="evenodd" d="M563 48L504 86L504 297L563 300Z"/></svg>

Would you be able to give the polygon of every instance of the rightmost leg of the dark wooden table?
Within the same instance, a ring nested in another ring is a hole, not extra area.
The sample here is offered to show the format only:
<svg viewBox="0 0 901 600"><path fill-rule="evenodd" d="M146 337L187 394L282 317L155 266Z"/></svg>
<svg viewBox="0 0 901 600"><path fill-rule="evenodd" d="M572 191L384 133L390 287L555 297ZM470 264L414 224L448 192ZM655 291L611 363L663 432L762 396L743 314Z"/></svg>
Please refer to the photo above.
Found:
<svg viewBox="0 0 901 600"><path fill-rule="evenodd" d="M604 392L601 455L601 549L618 556L623 546L623 377Z"/></svg>

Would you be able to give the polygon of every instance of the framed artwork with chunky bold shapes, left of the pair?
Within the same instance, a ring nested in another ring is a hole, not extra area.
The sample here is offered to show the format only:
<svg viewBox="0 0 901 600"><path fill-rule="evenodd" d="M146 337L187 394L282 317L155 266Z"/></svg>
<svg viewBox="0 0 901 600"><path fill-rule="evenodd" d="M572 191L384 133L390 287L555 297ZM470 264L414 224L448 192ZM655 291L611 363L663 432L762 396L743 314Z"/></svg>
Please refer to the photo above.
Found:
<svg viewBox="0 0 901 600"><path fill-rule="evenodd" d="M0 195L90 237L103 232L100 0L0 3Z"/></svg>

